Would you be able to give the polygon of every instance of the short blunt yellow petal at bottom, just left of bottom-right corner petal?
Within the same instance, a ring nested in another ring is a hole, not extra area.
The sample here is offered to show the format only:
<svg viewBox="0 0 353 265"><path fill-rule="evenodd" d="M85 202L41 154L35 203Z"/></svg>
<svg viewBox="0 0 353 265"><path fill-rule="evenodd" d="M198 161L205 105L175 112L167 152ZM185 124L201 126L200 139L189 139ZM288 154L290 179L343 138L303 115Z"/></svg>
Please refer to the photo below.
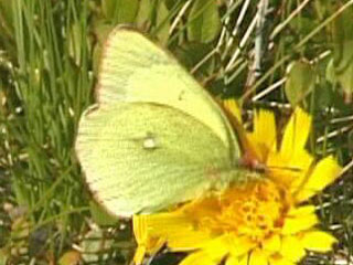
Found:
<svg viewBox="0 0 353 265"><path fill-rule="evenodd" d="M280 254L284 258L289 259L293 263L299 262L307 253L301 242L296 236L285 236L282 239L282 246Z"/></svg>

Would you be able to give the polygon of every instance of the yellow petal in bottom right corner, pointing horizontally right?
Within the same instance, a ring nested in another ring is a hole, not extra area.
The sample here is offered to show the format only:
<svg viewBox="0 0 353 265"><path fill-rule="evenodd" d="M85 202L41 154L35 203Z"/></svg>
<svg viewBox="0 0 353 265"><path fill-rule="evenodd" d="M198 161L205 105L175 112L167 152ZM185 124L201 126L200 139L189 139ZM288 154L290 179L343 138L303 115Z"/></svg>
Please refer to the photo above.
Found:
<svg viewBox="0 0 353 265"><path fill-rule="evenodd" d="M311 231L303 234L301 244L303 247L315 252L329 252L336 239L323 231Z"/></svg>

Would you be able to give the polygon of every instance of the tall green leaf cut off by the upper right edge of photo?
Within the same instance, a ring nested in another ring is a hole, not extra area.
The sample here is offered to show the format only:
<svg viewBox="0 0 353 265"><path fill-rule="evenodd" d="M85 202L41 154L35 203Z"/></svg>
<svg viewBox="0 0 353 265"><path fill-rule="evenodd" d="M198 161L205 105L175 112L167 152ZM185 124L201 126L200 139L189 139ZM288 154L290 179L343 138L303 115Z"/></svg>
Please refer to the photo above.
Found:
<svg viewBox="0 0 353 265"><path fill-rule="evenodd" d="M353 11L346 9L333 23L333 66L346 98L353 93Z"/></svg>

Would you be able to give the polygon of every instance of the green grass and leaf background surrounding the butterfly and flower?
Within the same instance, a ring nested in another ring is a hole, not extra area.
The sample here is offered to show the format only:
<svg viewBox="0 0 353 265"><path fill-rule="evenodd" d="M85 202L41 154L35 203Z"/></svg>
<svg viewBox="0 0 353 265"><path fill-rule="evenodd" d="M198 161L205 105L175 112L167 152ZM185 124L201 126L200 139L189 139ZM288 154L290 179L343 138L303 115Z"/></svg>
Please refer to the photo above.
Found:
<svg viewBox="0 0 353 265"><path fill-rule="evenodd" d="M0 264L129 263L130 224L90 200L73 150L104 40L121 23L215 97L271 108L280 123L296 105L314 116L309 149L347 167L314 199L340 244L303 263L351 261L353 1L0 0Z"/></svg>

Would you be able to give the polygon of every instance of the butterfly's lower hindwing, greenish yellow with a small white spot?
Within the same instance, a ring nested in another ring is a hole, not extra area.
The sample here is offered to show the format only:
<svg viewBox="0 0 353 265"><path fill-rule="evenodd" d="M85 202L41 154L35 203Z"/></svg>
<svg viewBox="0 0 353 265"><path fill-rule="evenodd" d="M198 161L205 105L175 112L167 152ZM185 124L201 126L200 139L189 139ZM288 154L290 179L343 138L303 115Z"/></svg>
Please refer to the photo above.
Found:
<svg viewBox="0 0 353 265"><path fill-rule="evenodd" d="M236 180L228 148L176 108L119 103L87 110L76 151L93 194L118 216L156 212Z"/></svg>

